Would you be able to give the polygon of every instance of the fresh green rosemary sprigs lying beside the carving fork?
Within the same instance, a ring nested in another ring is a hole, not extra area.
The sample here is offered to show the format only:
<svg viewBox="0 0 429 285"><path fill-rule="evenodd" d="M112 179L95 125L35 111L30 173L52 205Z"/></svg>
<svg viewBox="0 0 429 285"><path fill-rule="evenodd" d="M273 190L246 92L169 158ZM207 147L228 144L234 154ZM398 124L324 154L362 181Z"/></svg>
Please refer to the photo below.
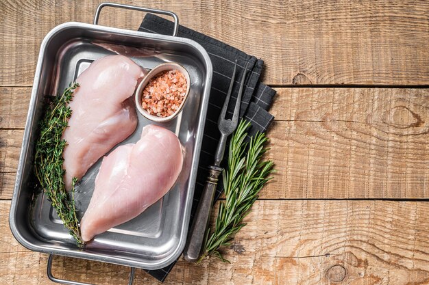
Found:
<svg viewBox="0 0 429 285"><path fill-rule="evenodd" d="M260 189L271 179L269 175L273 172L274 163L262 159L268 150L264 146L267 137L264 133L257 133L247 146L245 137L249 126L249 122L242 120L230 141L228 170L222 174L226 199L219 204L215 229L209 229L206 233L204 251L199 261L215 256L229 262L223 258L219 247L229 246L234 234L246 225L243 219L258 198Z"/></svg>

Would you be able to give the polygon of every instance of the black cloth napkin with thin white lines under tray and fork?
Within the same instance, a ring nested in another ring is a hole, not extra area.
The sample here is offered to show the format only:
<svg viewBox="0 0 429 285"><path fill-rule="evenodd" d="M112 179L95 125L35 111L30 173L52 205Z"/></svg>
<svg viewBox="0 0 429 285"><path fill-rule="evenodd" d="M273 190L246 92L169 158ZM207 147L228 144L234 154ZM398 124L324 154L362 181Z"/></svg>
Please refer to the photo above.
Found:
<svg viewBox="0 0 429 285"><path fill-rule="evenodd" d="M173 32L173 26L174 24L171 21L165 20L164 18L154 14L147 14L138 28L138 31L171 35ZM201 197L201 192L204 189L208 175L207 167L211 165L215 159L215 150L220 137L220 133L217 128L217 120L230 86L235 60L237 59L237 74L234 79L235 85L231 94L232 98L228 106L227 118L228 116L232 117L241 76L246 64L248 64L247 68L249 68L249 72L247 74L247 80L243 90L240 117L245 118L252 123L252 127L248 131L249 135L254 135L257 131L267 131L269 124L274 118L267 110L271 106L273 97L275 96L275 90L259 82L260 72L262 71L263 65L262 59L257 59L252 55L247 55L246 53L243 53L243 51L239 51L228 44L219 42L219 40L215 40L214 38L210 38L202 33L198 33L197 31L193 31L192 29L188 29L183 26L179 27L177 36L189 38L201 44L210 56L213 66L212 87L208 103L207 120L201 145L197 184L195 185L195 194L191 211L191 226L193 215L197 209L198 201ZM228 151L226 153L228 153ZM215 200L219 198L223 191L222 183L217 186ZM163 282L174 264L175 262L163 269L147 270L147 273Z"/></svg>

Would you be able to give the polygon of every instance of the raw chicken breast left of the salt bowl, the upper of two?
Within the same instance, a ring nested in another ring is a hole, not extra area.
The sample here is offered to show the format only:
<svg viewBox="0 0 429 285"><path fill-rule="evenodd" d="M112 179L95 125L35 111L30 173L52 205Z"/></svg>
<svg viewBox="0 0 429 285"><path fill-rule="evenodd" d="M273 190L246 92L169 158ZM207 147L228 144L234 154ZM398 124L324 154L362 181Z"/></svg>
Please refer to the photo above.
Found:
<svg viewBox="0 0 429 285"><path fill-rule="evenodd" d="M79 87L69 104L72 110L69 127L62 138L64 148L64 182L79 180L86 171L137 126L132 100L143 69L122 55L108 55L93 62L77 77Z"/></svg>

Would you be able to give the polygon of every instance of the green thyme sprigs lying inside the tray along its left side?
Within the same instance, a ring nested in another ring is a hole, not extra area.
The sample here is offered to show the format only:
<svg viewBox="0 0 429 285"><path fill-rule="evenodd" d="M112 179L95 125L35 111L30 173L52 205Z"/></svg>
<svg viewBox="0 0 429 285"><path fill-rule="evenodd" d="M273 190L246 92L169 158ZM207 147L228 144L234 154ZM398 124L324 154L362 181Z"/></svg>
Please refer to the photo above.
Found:
<svg viewBox="0 0 429 285"><path fill-rule="evenodd" d="M73 177L71 193L68 193L63 180L65 170L62 168L64 162L62 152L66 146L62 133L71 116L71 109L67 104L72 100L73 90L78 86L75 83L66 88L62 96L56 96L49 104L45 117L40 122L40 136L36 142L34 155L34 171L47 199L56 209L58 217L69 229L77 245L82 247L84 242L80 236L74 199L77 178Z"/></svg>

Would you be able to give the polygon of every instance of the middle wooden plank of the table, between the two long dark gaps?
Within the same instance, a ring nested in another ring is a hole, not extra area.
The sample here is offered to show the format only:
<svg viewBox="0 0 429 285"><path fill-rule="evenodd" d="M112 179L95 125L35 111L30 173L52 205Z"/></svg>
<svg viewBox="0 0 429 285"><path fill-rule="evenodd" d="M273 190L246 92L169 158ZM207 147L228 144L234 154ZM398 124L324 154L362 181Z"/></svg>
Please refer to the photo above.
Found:
<svg viewBox="0 0 429 285"><path fill-rule="evenodd" d="M2 88L29 94L29 88ZM0 91L1 91L0 90ZM429 90L278 88L268 136L278 172L260 198L428 198ZM29 96L3 122L23 128ZM3 105L2 105L3 106ZM7 118L14 118L8 120ZM15 172L23 131L0 130L0 172ZM0 176L10 198L11 174Z"/></svg>

